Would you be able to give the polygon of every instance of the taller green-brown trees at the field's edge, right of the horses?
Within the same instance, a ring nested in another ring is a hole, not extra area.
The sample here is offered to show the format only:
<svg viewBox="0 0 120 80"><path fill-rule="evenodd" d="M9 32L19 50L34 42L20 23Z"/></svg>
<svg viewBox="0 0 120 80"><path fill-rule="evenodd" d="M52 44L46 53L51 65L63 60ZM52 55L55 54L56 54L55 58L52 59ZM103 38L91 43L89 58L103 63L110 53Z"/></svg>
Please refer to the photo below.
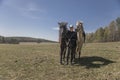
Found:
<svg viewBox="0 0 120 80"><path fill-rule="evenodd" d="M108 26L103 26L95 32L86 33L86 42L116 42L120 41L120 17L111 21Z"/></svg>

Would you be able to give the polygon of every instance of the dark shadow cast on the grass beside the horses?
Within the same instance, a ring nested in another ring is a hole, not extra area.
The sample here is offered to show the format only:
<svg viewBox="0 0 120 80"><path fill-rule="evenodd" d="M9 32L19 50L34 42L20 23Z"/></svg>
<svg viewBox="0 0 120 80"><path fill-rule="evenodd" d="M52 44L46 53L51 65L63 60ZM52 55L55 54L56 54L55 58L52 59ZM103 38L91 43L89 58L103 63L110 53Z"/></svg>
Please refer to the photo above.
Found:
<svg viewBox="0 0 120 80"><path fill-rule="evenodd" d="M115 63L115 61L111 61L102 57L92 56L92 57L81 57L75 59L75 65L85 66L87 69L89 68L100 68L102 66Z"/></svg>

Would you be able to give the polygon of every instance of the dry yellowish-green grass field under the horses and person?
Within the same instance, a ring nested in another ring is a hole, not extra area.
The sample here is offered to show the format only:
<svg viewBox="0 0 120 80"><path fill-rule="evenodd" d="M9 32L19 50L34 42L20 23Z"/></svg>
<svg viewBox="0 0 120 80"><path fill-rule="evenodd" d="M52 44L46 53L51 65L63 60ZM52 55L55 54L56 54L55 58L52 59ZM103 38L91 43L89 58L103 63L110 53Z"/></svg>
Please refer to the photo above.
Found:
<svg viewBox="0 0 120 80"><path fill-rule="evenodd" d="M81 60L59 64L59 44L0 44L0 80L120 80L120 42L86 43Z"/></svg>

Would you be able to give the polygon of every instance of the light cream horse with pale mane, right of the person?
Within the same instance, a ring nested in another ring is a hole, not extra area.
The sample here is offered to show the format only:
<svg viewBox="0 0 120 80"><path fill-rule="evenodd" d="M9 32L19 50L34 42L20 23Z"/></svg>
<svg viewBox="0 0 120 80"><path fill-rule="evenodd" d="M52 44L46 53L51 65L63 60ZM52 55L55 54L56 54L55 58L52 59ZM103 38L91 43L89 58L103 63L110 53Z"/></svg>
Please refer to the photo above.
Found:
<svg viewBox="0 0 120 80"><path fill-rule="evenodd" d="M85 32L83 28L83 23L78 21L76 23L76 32L77 32L77 47L76 47L76 53L79 54L79 59L81 55L81 49L83 46L83 43L85 42Z"/></svg>

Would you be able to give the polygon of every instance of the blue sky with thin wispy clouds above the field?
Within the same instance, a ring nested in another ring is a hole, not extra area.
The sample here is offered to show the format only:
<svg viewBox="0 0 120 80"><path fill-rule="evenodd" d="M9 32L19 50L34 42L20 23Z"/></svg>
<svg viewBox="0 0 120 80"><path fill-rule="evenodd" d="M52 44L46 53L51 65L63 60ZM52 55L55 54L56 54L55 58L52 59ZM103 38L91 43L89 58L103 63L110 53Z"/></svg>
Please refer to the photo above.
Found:
<svg viewBox="0 0 120 80"><path fill-rule="evenodd" d="M58 22L83 21L89 33L117 17L120 0L0 0L0 35L58 41Z"/></svg>

